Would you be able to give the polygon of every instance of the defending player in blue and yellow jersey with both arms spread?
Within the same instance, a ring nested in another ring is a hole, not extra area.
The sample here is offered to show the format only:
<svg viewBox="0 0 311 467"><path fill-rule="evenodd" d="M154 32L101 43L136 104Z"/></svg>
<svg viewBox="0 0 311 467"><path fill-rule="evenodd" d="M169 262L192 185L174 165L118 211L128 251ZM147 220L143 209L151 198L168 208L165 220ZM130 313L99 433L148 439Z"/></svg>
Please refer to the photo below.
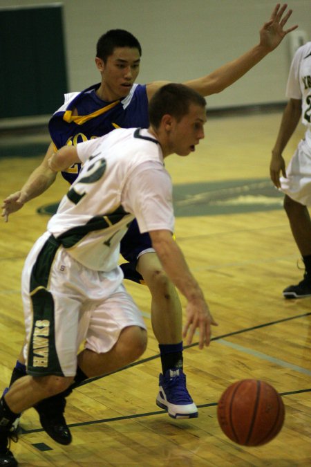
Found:
<svg viewBox="0 0 311 467"><path fill-rule="evenodd" d="M260 42L244 55L221 66L213 73L186 82L203 96L219 93L230 86L268 53L274 50L286 34L297 26L284 30L292 10L277 4L270 21L260 31ZM148 102L156 91L167 82L135 84L140 68L142 50L133 35L124 30L111 30L97 42L95 63L102 75L99 84L82 93L66 95L62 106L50 120L52 143L44 161L32 172L28 181L17 193L3 202L3 217L19 210L24 203L39 196L55 181L55 172L48 167L48 159L63 145L76 145L84 140L102 136L117 127L148 127ZM79 165L63 172L72 183L79 173ZM122 239L121 253L127 263L122 265L124 277L144 282L151 291L151 320L153 332L159 342L162 373L156 403L170 416L183 418L198 416L198 410L186 387L182 370L182 309L175 288L164 273L152 248L148 234L140 235L133 221L129 232ZM187 323L186 323L187 327ZM185 335L184 335L185 336ZM204 347L200 341L200 348ZM13 370L10 384L26 372L23 351ZM88 378L87 372L77 369L76 383ZM63 412L64 397L58 395L37 405L40 421L53 439L70 443L71 437ZM1 465L1 464L0 464Z"/></svg>

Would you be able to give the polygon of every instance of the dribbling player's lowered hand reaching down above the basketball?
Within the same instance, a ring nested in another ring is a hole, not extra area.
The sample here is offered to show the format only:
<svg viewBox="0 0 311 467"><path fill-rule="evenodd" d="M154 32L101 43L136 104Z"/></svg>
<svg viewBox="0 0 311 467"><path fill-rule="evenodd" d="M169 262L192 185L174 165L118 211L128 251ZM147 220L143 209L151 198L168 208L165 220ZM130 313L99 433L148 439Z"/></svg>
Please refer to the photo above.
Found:
<svg viewBox="0 0 311 467"><path fill-rule="evenodd" d="M199 331L199 349L208 346L211 340L211 325L218 326L209 311L205 300L194 300L187 303L187 320L182 332L182 337L187 337L187 345L190 345L196 329Z"/></svg>

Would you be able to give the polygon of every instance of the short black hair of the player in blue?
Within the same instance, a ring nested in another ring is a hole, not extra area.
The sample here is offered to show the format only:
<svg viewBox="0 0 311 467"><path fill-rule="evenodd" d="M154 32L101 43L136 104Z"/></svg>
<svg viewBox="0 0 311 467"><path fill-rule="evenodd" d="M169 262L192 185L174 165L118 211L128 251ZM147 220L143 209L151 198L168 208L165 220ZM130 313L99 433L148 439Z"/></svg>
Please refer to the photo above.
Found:
<svg viewBox="0 0 311 467"><path fill-rule="evenodd" d="M117 47L138 48L140 57L142 55L142 47L133 34L124 29L111 29L98 39L96 57L101 58L106 63L107 58L113 55L113 51Z"/></svg>

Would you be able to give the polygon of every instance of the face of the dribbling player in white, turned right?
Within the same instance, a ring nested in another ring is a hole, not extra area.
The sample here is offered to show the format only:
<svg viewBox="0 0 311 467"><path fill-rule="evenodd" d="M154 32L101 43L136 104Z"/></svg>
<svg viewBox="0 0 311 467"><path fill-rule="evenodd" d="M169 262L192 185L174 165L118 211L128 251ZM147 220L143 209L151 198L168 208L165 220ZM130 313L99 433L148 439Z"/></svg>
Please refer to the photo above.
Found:
<svg viewBox="0 0 311 467"><path fill-rule="evenodd" d="M169 135L172 152L178 156L188 156L194 152L196 145L205 136L205 122L205 108L195 104L190 105L189 112L179 122L173 119Z"/></svg>

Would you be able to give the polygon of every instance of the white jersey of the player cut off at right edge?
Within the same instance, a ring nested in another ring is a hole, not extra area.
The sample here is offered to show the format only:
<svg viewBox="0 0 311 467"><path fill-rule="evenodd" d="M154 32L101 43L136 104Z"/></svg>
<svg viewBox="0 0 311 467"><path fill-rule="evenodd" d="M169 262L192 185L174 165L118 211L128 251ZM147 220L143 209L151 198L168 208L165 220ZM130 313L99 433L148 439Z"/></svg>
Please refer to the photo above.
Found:
<svg viewBox="0 0 311 467"><path fill-rule="evenodd" d="M305 140L311 148L311 42L299 47L294 55L286 96L302 101L301 122L307 127Z"/></svg>

